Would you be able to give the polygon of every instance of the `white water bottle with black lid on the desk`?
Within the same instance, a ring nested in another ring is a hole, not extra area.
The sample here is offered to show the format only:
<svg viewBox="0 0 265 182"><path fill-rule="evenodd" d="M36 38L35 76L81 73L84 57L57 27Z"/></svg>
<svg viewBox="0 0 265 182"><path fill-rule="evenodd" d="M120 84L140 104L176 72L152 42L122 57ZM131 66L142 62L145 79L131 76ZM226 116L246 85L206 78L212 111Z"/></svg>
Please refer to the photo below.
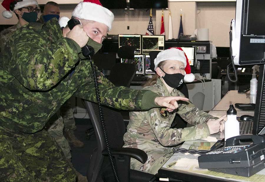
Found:
<svg viewBox="0 0 265 182"><path fill-rule="evenodd" d="M225 141L228 138L239 135L239 122L236 119L236 109L233 104L229 106L227 110L227 120L225 122Z"/></svg>

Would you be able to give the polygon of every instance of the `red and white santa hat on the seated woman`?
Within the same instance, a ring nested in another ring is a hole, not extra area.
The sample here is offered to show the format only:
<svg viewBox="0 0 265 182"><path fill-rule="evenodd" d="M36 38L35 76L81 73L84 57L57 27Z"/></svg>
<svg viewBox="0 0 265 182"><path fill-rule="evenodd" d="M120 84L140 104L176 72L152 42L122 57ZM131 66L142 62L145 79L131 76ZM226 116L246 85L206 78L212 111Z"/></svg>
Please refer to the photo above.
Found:
<svg viewBox="0 0 265 182"><path fill-rule="evenodd" d="M189 64L187 55L180 47L171 47L158 53L154 60L155 69L161 61L165 60L178 60L183 62L185 67L184 82L193 82L195 76L191 73L191 66Z"/></svg>

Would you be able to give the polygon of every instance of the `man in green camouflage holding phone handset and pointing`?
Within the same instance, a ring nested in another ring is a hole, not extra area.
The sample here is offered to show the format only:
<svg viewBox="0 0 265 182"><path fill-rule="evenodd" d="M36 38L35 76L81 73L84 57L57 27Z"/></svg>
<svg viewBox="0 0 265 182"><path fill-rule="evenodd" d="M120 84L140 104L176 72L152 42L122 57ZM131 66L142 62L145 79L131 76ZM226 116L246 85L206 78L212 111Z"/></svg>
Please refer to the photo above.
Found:
<svg viewBox="0 0 265 182"><path fill-rule="evenodd" d="M1 52L0 181L75 181L73 168L43 128L72 95L97 102L90 60L81 47L87 44L97 52L114 16L99 2L87 0L72 15L83 25L70 31L61 30L56 18L46 25L29 23L11 36ZM173 110L177 100L185 99L115 87L99 71L97 78L102 103L119 109Z"/></svg>

